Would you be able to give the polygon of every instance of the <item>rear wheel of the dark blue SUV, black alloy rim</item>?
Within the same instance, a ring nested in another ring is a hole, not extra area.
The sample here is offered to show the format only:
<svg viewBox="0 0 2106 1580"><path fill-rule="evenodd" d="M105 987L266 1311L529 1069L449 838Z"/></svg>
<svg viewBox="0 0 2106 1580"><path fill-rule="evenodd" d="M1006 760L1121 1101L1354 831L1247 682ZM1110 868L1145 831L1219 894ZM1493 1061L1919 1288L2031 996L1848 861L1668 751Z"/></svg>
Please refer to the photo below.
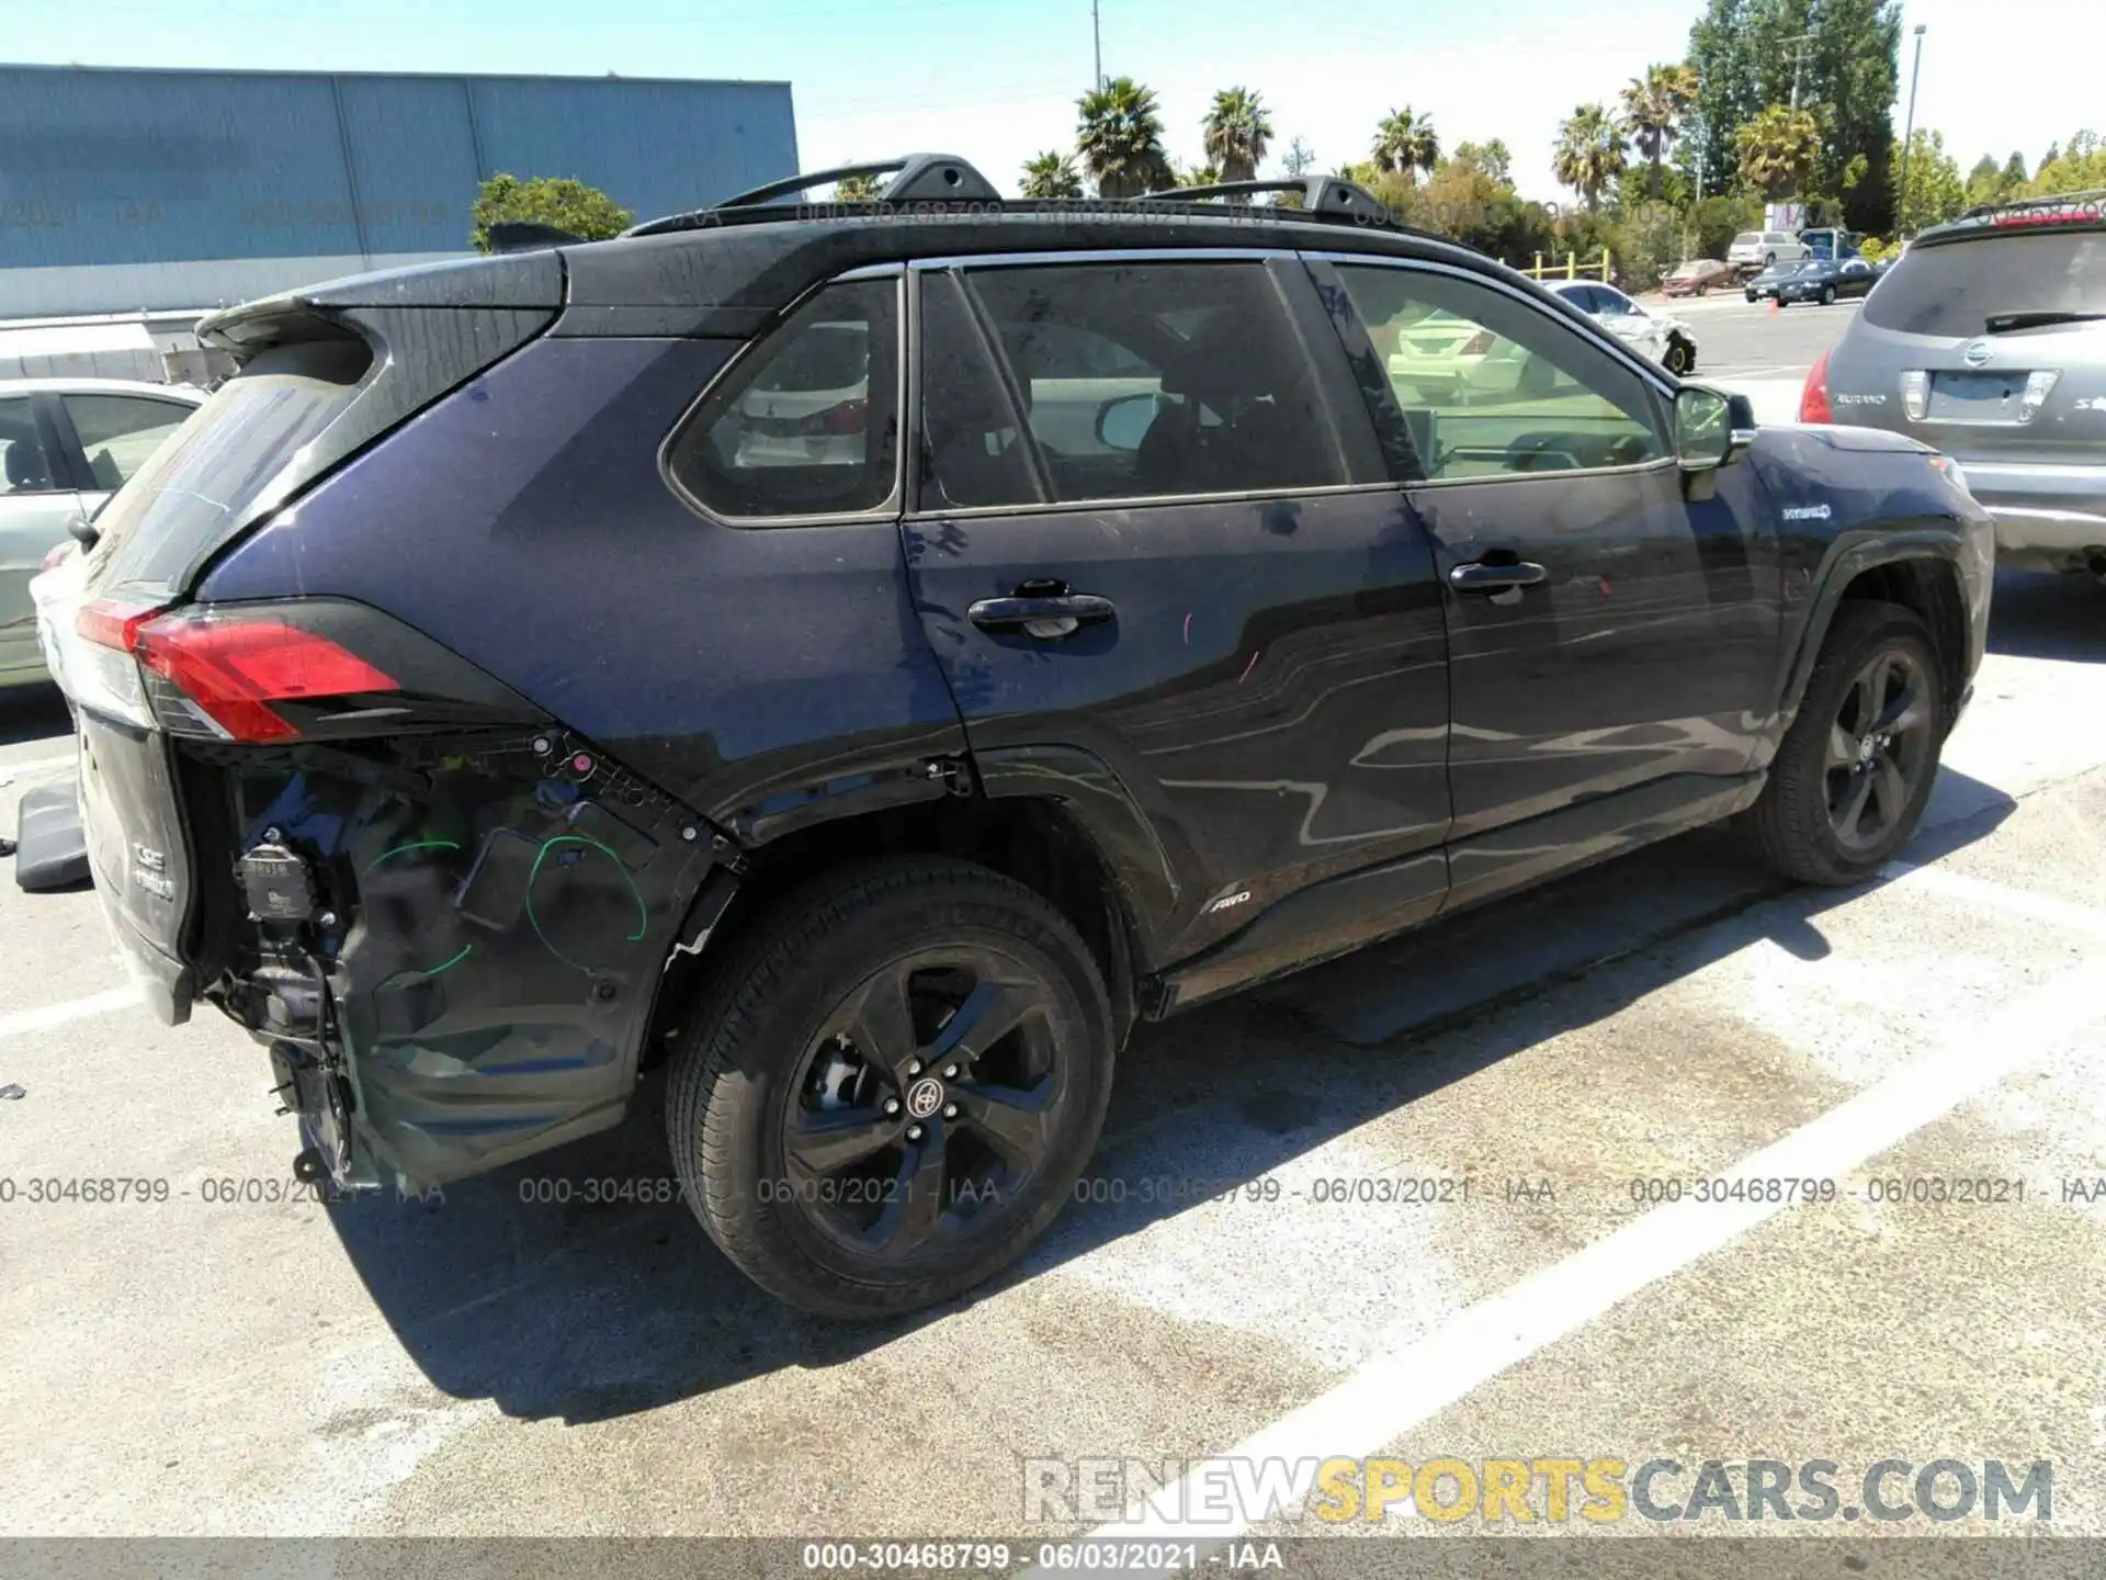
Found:
<svg viewBox="0 0 2106 1580"><path fill-rule="evenodd" d="M672 1165L718 1249L792 1306L876 1319L984 1283L1047 1230L1097 1146L1104 975L1047 900L998 872L842 868L758 914L714 982L668 1081ZM984 1047L971 1032L946 1045L967 999L979 1022L1036 1007Z"/></svg>

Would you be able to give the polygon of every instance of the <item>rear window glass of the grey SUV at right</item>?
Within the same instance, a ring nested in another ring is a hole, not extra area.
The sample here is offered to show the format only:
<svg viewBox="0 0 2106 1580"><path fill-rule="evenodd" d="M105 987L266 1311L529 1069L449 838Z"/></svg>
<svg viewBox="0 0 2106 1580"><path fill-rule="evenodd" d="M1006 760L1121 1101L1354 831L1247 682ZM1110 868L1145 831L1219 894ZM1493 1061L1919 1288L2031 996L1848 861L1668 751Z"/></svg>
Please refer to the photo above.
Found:
<svg viewBox="0 0 2106 1580"><path fill-rule="evenodd" d="M2106 312L2106 232L2011 232L1912 246L1864 316L1904 335L1980 335L2005 312Z"/></svg>

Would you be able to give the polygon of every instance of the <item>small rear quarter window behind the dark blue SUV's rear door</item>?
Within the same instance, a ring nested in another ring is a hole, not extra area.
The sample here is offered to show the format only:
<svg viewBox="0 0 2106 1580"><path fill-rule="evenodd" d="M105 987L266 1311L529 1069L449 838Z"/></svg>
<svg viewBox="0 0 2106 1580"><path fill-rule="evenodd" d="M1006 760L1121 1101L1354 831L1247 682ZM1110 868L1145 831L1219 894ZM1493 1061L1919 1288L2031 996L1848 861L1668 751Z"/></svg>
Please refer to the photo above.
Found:
<svg viewBox="0 0 2106 1580"><path fill-rule="evenodd" d="M682 421L674 482L727 520L887 506L899 455L899 280L840 280L748 350Z"/></svg>

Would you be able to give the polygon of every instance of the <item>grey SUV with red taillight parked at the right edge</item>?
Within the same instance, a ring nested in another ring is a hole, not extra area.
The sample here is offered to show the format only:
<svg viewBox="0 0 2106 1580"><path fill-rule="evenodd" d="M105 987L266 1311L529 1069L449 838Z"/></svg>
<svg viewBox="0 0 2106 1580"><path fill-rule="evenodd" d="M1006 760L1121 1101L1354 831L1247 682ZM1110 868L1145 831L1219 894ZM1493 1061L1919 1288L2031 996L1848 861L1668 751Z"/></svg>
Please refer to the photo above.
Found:
<svg viewBox="0 0 2106 1580"><path fill-rule="evenodd" d="M1933 445L1996 518L2001 562L2106 579L2106 192L1916 236L1799 417Z"/></svg>

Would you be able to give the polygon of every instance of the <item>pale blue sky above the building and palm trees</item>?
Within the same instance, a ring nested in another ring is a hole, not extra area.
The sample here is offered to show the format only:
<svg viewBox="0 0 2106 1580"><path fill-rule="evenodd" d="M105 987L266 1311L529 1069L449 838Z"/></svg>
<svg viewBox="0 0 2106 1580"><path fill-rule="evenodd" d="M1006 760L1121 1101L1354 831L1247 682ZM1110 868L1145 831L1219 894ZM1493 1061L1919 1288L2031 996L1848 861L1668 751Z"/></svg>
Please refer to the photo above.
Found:
<svg viewBox="0 0 2106 1580"><path fill-rule="evenodd" d="M1156 88L1177 160L1198 158L1213 88L1240 82L1272 107L1276 152L1302 135L1318 169L1363 158L1375 120L1409 103L1443 145L1504 137L1537 198L1561 196L1556 122L1649 61L1681 59L1700 8L1099 4L1104 70ZM1904 23L1929 25L1916 124L1942 129L1963 171L2011 150L2030 166L2087 120L2106 133L2098 48L2081 46L2106 36L2100 17L2100 0L1908 0ZM1904 97L1910 42L1904 32ZM804 169L939 147L1013 187L1032 152L1072 145L1091 32L1089 0L0 0L0 59L788 80Z"/></svg>

